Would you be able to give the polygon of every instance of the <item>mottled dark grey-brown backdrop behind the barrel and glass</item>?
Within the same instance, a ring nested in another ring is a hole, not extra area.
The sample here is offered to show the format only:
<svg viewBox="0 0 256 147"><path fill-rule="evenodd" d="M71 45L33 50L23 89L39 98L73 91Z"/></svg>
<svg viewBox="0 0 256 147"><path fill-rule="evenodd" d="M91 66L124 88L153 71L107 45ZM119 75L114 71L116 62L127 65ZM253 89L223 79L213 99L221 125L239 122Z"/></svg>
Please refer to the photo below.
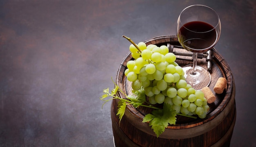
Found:
<svg viewBox="0 0 256 147"><path fill-rule="evenodd" d="M256 147L254 0L1 0L0 146L113 147L99 97L128 53L121 36L175 35L191 4L220 15L215 48L236 83L231 147Z"/></svg>

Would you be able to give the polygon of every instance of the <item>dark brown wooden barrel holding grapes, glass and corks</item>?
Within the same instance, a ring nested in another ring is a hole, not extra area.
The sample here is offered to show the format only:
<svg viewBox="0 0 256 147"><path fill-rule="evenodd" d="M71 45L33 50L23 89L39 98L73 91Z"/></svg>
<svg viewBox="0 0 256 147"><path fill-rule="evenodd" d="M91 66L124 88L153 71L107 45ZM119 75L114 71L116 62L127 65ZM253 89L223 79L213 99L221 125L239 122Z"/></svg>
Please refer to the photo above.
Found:
<svg viewBox="0 0 256 147"><path fill-rule="evenodd" d="M145 41L157 46L171 44L180 46L176 36L160 36ZM116 147L229 147L236 121L235 83L229 65L223 57L212 49L212 73L209 88L213 91L219 77L227 79L227 88L222 94L215 94L216 101L209 104L210 110L204 119L190 119L177 116L175 125L169 125L158 138L148 126L142 123L146 108L126 107L126 112L119 124L117 114L118 100L112 101L111 118ZM187 57L188 58L188 57ZM126 79L124 71L131 54L124 57L117 72L116 82L127 95L131 94L131 82ZM198 64L207 68L205 59L198 59ZM191 61L176 60L180 66L192 64ZM214 92L213 92L214 93ZM124 94L118 93L125 98Z"/></svg>

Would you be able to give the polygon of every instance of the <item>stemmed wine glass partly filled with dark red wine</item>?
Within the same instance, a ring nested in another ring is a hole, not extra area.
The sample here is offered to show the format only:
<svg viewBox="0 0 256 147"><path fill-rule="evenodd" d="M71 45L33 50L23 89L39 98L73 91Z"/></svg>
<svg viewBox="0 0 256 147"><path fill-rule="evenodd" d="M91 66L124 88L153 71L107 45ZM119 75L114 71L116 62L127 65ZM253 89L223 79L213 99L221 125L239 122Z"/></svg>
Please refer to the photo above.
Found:
<svg viewBox="0 0 256 147"><path fill-rule="evenodd" d="M216 11L204 5L186 7L177 20L177 38L183 48L193 53L193 65L183 67L187 83L201 90L211 83L209 71L197 65L198 53L213 48L220 38L220 19Z"/></svg>

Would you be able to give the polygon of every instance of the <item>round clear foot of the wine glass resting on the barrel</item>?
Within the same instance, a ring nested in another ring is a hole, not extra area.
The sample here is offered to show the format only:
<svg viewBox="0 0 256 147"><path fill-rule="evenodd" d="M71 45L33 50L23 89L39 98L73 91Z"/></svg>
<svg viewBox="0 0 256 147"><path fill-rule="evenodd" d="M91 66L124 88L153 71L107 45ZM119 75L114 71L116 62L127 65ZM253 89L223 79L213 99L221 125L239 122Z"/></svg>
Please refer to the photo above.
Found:
<svg viewBox="0 0 256 147"><path fill-rule="evenodd" d="M196 72L193 73L192 66L193 65L186 65L182 67L185 72L184 77L186 78L186 82L195 90L201 90L202 88L209 86L211 83L210 72L201 66L196 66Z"/></svg>

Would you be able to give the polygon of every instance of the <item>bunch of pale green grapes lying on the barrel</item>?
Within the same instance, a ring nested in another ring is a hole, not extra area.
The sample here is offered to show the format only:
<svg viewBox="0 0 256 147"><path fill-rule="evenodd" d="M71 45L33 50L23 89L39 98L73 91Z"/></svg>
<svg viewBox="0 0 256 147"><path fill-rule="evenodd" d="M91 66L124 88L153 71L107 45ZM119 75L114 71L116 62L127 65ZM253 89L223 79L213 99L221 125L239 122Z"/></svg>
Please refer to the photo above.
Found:
<svg viewBox="0 0 256 147"><path fill-rule="evenodd" d="M132 82L132 89L143 86L150 104L169 103L176 113L197 114L205 118L209 111L204 93L186 83L184 71L176 62L176 56L169 53L167 46L160 47L144 42L130 45L134 60L127 62L124 74Z"/></svg>

